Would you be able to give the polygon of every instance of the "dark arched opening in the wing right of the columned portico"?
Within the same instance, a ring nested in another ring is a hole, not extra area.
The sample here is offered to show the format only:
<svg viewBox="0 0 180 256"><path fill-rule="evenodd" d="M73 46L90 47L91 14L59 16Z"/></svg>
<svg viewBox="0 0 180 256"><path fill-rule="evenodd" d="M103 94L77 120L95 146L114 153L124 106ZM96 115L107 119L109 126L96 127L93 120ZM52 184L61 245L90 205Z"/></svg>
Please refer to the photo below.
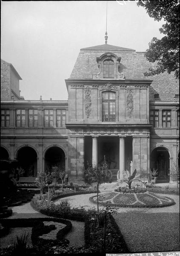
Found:
<svg viewBox="0 0 180 256"><path fill-rule="evenodd" d="M154 148L151 153L150 168L157 169L157 182L169 182L169 152L166 148Z"/></svg>

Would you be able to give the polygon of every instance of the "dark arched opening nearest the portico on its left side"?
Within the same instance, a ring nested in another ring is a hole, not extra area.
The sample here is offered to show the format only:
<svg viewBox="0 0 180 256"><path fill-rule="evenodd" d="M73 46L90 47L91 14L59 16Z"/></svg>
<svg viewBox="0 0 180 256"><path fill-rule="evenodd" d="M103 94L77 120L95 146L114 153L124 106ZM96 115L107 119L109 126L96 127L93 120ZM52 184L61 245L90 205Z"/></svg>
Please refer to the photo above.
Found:
<svg viewBox="0 0 180 256"><path fill-rule="evenodd" d="M62 172L65 171L65 153L63 149L53 146L46 151L45 154L45 172ZM56 180L61 183L58 175Z"/></svg>

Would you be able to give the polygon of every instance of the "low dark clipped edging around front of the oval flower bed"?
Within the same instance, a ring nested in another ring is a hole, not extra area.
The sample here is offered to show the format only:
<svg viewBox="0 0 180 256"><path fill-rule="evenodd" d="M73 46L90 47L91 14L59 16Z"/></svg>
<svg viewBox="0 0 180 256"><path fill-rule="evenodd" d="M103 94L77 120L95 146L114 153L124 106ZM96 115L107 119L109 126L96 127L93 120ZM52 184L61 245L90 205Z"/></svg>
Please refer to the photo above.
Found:
<svg viewBox="0 0 180 256"><path fill-rule="evenodd" d="M94 199L93 199L94 197L96 197L96 195L91 196L89 198L89 201L93 204L97 204L97 202L94 201ZM160 204L160 205L148 205L148 206L146 206L146 205L143 205L143 204L140 204L140 203L128 204L127 205L127 204L111 204L110 201L105 202L105 203L99 201L99 205L101 205L101 206L110 206L110 207L159 208L159 207L168 207L168 206L172 206L172 205L176 204L172 198L169 198L169 197L165 197L165 198L170 199L171 203L167 204L167 202L166 202L163 205Z"/></svg>

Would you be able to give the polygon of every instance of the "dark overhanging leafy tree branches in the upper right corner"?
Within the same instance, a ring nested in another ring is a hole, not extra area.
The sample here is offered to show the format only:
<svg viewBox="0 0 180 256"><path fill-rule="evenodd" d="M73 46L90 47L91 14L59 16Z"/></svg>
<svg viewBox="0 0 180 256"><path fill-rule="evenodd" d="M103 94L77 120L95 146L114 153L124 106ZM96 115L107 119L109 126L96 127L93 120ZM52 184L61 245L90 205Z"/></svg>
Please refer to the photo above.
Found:
<svg viewBox="0 0 180 256"><path fill-rule="evenodd" d="M138 1L137 6L143 6L154 20L166 22L159 29L165 36L152 38L145 54L148 61L157 61L157 67L149 68L144 75L154 76L167 71L174 72L179 79L179 0Z"/></svg>

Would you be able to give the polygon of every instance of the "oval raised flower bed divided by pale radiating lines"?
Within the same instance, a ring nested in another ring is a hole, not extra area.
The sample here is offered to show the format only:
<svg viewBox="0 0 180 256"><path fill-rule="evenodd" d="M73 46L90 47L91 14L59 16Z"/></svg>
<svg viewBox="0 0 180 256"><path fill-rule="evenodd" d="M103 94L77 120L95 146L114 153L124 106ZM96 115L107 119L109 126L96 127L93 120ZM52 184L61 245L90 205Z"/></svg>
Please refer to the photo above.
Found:
<svg viewBox="0 0 180 256"><path fill-rule="evenodd" d="M89 200L97 204L97 196ZM114 192L99 196L99 205L111 207L166 207L175 204L174 200L149 192L141 186L118 187Z"/></svg>

